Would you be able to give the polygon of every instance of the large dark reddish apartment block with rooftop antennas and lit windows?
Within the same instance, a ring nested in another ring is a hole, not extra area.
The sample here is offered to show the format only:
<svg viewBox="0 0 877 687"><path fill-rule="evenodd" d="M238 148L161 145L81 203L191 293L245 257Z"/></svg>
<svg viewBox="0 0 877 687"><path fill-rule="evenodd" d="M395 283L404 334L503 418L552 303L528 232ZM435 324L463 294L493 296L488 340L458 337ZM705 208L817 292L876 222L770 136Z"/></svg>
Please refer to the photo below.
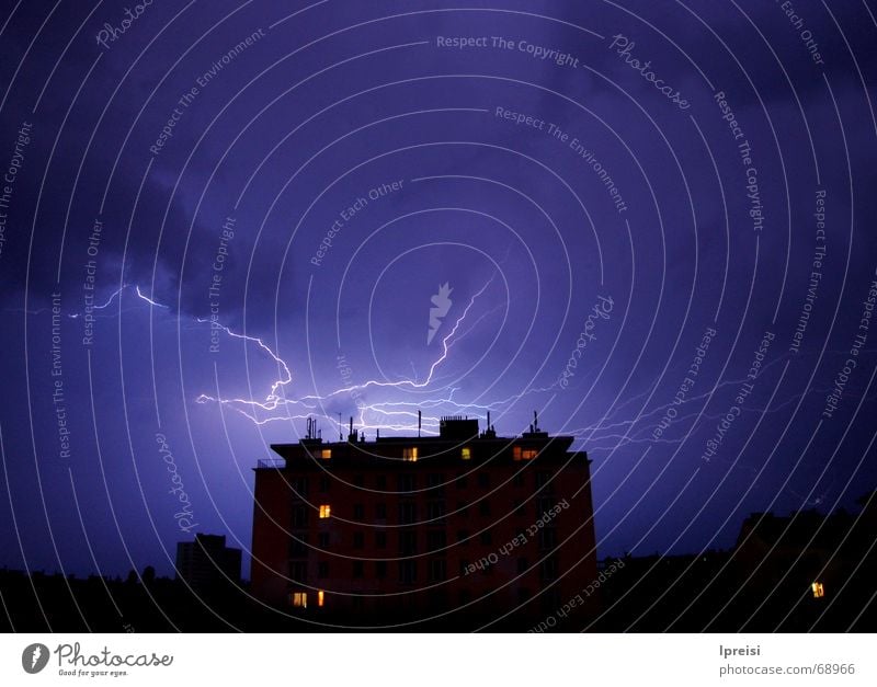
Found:
<svg viewBox="0 0 877 687"><path fill-rule="evenodd" d="M375 621L543 617L596 579L590 460L534 425L444 417L437 437L309 432L255 468L252 591ZM487 612L485 612L487 611Z"/></svg>

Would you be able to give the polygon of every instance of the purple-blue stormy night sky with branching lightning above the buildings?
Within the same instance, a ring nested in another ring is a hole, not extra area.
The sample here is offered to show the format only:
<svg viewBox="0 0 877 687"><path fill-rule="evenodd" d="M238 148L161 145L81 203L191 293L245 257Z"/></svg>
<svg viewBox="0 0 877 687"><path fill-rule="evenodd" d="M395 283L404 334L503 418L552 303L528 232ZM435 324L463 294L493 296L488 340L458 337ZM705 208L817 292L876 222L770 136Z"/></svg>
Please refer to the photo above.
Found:
<svg viewBox="0 0 877 687"><path fill-rule="evenodd" d="M130 10L126 14L126 10ZM875 11L13 2L0 565L248 551L252 468L533 411L600 557L877 486Z"/></svg>

